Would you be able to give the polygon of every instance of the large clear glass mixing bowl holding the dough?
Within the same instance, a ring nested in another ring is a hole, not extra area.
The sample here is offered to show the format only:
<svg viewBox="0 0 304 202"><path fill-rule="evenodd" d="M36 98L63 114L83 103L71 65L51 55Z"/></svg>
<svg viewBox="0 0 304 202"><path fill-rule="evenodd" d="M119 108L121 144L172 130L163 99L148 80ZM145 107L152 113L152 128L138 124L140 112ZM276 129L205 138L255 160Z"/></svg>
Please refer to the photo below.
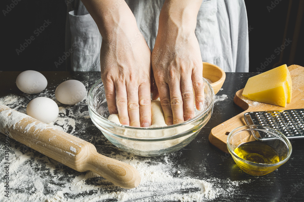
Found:
<svg viewBox="0 0 304 202"><path fill-rule="evenodd" d="M180 124L165 127L131 127L109 121L105 89L99 79L88 93L88 109L92 122L114 145L139 156L161 156L178 151L189 144L211 118L214 91L204 80L205 108L195 111L195 117Z"/></svg>

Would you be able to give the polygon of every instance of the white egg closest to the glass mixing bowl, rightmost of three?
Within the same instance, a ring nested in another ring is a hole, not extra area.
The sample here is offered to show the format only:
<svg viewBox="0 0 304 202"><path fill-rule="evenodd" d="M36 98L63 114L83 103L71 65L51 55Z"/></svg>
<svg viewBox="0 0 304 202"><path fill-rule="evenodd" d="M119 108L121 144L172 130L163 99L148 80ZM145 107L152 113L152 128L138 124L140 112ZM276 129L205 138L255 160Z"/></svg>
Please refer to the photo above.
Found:
<svg viewBox="0 0 304 202"><path fill-rule="evenodd" d="M56 99L62 104L76 104L86 95L85 85L77 80L67 80L55 90Z"/></svg>

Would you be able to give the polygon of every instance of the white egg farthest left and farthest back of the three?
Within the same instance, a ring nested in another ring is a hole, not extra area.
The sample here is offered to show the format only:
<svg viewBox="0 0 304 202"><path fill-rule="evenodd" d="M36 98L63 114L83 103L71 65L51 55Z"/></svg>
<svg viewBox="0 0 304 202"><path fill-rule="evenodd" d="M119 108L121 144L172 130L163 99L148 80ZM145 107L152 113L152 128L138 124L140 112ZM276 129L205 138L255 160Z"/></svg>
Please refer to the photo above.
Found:
<svg viewBox="0 0 304 202"><path fill-rule="evenodd" d="M16 84L20 91L36 94L47 87L47 79L38 71L27 70L17 76Z"/></svg>

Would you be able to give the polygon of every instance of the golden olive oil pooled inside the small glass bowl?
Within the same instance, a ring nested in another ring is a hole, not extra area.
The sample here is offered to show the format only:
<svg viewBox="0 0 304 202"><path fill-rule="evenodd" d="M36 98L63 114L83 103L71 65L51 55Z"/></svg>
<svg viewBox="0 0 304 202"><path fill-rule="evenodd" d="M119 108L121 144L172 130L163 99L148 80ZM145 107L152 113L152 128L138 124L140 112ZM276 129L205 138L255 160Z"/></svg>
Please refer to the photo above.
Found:
<svg viewBox="0 0 304 202"><path fill-rule="evenodd" d="M234 152L239 157L257 164L275 164L280 161L274 148L258 141L241 144L235 148Z"/></svg>

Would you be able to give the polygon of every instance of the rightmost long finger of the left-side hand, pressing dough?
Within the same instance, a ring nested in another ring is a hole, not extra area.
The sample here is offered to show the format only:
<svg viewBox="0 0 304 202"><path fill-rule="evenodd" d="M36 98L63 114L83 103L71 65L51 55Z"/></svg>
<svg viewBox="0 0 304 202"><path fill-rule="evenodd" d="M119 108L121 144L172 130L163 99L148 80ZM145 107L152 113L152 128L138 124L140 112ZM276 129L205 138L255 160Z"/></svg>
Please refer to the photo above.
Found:
<svg viewBox="0 0 304 202"><path fill-rule="evenodd" d="M142 83L138 88L140 126L149 127L151 121L151 93L149 91L150 83Z"/></svg>

